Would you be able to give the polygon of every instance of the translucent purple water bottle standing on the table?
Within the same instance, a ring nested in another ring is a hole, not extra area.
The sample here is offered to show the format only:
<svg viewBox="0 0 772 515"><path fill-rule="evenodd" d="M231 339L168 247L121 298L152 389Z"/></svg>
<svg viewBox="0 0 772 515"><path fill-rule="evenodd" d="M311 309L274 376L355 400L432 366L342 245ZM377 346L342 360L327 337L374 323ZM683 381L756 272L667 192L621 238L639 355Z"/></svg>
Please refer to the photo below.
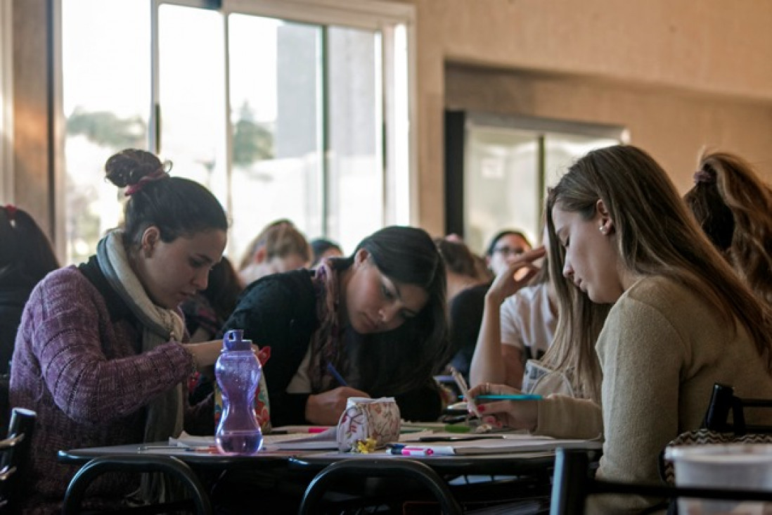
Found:
<svg viewBox="0 0 772 515"><path fill-rule="evenodd" d="M222 352L215 364L215 377L222 391L222 417L215 442L225 454L250 455L259 451L262 432L255 415L255 392L262 369L252 341L244 331L232 329L222 338Z"/></svg>

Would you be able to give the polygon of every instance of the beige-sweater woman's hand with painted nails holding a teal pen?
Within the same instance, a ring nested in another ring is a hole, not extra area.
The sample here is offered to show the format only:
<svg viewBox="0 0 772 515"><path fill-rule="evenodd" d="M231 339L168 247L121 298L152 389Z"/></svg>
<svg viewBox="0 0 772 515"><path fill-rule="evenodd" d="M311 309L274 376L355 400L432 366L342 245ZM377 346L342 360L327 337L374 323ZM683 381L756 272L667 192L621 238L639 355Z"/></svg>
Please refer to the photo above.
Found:
<svg viewBox="0 0 772 515"><path fill-rule="evenodd" d="M506 385L483 383L469 390L469 396L477 401L477 409L485 415L485 422L512 429L536 429L540 395L523 394Z"/></svg>

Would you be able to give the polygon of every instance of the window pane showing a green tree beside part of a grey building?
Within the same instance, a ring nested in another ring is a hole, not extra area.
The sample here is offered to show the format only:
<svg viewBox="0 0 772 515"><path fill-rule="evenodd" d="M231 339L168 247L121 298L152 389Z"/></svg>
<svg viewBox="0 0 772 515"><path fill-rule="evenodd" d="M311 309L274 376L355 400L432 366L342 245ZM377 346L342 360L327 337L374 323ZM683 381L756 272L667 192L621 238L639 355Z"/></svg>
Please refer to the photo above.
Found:
<svg viewBox="0 0 772 515"><path fill-rule="evenodd" d="M273 220L323 232L318 25L230 15L232 251Z"/></svg>

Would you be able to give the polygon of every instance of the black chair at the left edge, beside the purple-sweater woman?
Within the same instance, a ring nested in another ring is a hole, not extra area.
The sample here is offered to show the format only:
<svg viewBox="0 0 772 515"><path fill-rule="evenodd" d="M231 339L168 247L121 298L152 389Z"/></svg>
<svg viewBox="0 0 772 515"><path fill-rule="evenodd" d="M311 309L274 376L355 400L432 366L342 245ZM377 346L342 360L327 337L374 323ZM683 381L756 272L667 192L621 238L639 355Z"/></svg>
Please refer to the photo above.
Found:
<svg viewBox="0 0 772 515"><path fill-rule="evenodd" d="M13 408L8 437L0 441L0 510L8 513L15 513L25 492L22 476L37 416L32 410Z"/></svg>

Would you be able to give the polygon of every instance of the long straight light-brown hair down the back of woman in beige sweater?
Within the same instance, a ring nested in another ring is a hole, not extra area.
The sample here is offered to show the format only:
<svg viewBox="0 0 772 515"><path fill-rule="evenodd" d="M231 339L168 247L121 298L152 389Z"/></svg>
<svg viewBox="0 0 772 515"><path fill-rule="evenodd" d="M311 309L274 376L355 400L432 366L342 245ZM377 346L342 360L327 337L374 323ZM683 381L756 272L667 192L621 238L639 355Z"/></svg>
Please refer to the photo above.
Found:
<svg viewBox="0 0 772 515"><path fill-rule="evenodd" d="M591 151L572 165L547 197L550 245L560 246L552 208L559 205L591 219L598 199L614 222L619 256L627 269L643 276L666 276L695 291L727 324L746 328L767 369L772 369L770 308L757 300L708 241L651 156L637 147L617 145ZM554 261L553 269L562 269L562 260ZM581 307L584 300L578 302Z"/></svg>

